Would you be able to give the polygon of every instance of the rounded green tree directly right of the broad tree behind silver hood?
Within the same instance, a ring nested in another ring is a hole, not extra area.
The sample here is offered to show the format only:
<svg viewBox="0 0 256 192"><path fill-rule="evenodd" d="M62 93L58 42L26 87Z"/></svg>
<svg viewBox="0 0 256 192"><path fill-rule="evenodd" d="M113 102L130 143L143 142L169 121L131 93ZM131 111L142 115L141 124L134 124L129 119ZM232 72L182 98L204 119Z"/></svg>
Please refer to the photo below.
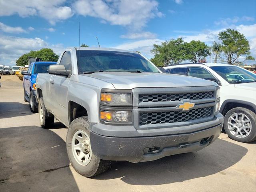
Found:
<svg viewBox="0 0 256 192"><path fill-rule="evenodd" d="M198 63L211 54L210 47L201 41L190 41L185 44L186 55L190 62Z"/></svg>

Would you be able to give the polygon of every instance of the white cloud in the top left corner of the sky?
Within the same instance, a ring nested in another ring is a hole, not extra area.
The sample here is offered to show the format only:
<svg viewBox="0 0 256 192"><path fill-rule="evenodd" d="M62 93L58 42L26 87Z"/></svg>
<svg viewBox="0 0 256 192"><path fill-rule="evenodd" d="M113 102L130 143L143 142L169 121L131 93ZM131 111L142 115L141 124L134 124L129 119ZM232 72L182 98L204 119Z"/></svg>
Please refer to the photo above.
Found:
<svg viewBox="0 0 256 192"><path fill-rule="evenodd" d="M70 7L62 6L65 0L1 0L0 16L18 14L21 17L40 16L51 24L66 20L73 16Z"/></svg>

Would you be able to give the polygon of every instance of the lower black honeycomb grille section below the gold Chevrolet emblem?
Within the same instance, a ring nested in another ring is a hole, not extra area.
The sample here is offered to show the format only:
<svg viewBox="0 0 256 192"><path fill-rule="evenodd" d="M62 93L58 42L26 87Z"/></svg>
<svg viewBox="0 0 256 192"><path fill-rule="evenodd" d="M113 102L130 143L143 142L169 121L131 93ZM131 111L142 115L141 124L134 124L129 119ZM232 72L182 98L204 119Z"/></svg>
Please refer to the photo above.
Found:
<svg viewBox="0 0 256 192"><path fill-rule="evenodd" d="M189 111L140 112L140 125L186 122L209 117L212 107L192 109Z"/></svg>

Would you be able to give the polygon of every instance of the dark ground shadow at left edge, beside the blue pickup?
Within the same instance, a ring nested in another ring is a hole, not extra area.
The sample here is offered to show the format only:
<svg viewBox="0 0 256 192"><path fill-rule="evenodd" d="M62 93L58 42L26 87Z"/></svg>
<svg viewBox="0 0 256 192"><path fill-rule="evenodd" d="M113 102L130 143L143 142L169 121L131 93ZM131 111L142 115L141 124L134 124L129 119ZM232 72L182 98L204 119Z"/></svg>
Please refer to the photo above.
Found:
<svg viewBox="0 0 256 192"><path fill-rule="evenodd" d="M0 102L0 119L34 114L29 104L19 102Z"/></svg>

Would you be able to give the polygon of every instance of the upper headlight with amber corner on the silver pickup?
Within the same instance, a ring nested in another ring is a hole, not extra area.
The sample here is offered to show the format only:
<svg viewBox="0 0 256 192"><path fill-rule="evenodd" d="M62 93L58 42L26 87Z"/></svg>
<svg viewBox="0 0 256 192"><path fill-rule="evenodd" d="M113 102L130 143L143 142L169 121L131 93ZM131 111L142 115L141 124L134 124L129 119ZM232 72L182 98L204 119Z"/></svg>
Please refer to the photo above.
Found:
<svg viewBox="0 0 256 192"><path fill-rule="evenodd" d="M100 101L108 105L130 105L132 104L130 93L101 93Z"/></svg>

